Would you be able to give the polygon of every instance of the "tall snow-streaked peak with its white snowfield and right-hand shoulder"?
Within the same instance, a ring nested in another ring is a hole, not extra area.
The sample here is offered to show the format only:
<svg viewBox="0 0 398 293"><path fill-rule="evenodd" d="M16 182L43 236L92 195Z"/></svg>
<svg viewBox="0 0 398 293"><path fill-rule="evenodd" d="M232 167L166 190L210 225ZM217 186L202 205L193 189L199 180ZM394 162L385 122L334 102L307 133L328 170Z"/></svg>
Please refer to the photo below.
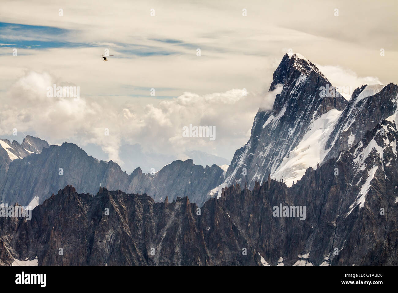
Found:
<svg viewBox="0 0 398 293"><path fill-rule="evenodd" d="M305 57L285 55L269 91L279 90L270 111L259 110L248 143L238 149L218 188L268 174L287 186L306 172L358 143L396 110L397 86L365 85L347 101Z"/></svg>

